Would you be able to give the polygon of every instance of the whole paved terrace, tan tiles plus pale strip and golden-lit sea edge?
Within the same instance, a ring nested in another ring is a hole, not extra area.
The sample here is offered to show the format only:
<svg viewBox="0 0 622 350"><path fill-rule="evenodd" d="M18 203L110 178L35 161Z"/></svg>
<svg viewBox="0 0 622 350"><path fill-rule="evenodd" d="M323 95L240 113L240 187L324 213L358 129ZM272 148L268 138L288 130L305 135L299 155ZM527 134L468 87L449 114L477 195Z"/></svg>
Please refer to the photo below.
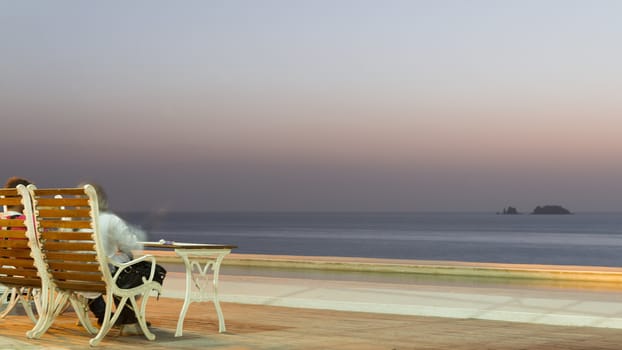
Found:
<svg viewBox="0 0 622 350"><path fill-rule="evenodd" d="M174 337L185 274L183 265L162 257L169 270L163 296L150 299L147 310L157 339L112 330L99 348L622 349L619 268L397 266L376 260L368 266L367 261L341 259L339 264L349 264L343 271L343 266L325 266L324 259L292 259L232 257L232 264L221 270L219 285L227 331L218 333L212 303L194 303L184 335ZM301 262L313 266L297 267ZM402 272L404 268L426 273ZM448 275L453 272L467 277ZM557 278L560 274L565 277ZM529 276L534 278L524 278ZM20 314L0 320L0 350L89 347L89 335L73 312L61 315L41 339L26 338L32 326Z"/></svg>

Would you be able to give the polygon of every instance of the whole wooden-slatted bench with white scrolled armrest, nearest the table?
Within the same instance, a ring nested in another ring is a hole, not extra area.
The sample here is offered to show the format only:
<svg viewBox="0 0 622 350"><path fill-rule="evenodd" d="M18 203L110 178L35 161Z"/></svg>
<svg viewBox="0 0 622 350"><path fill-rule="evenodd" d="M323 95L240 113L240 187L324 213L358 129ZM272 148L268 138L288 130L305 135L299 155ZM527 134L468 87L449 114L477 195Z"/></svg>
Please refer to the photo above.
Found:
<svg viewBox="0 0 622 350"><path fill-rule="evenodd" d="M87 331L96 333L89 342L92 346L99 344L110 331L120 310L128 303L145 337L154 340L155 335L146 325L145 310L151 292L161 291L161 285L153 281L155 258L146 255L125 264L114 264L108 259L98 227L97 194L92 186L37 189L29 185L28 190L40 243L32 251L41 275L42 290L46 294L44 317L28 332L28 337L42 336L69 301ZM150 278L138 287L119 288L116 280L121 271L145 260L152 263ZM114 274L110 264L117 267ZM105 318L99 330L91 324L84 307L84 295L89 293L104 294L106 300ZM113 296L121 299L114 313ZM140 297L140 306L137 297Z"/></svg>

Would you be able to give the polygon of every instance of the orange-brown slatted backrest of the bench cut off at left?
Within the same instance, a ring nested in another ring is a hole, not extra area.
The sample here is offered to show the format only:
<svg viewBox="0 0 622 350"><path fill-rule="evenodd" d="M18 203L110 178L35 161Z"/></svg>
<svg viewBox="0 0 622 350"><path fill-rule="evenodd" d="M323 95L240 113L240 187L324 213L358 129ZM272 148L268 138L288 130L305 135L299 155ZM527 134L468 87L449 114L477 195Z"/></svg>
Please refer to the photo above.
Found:
<svg viewBox="0 0 622 350"><path fill-rule="evenodd" d="M23 186L22 186L23 187ZM0 188L0 206L30 207L25 188ZM13 287L40 287L41 278L31 255L31 244L37 244L35 233L26 225L30 217L5 218L0 213L0 284ZM29 239L29 236L31 236Z"/></svg>

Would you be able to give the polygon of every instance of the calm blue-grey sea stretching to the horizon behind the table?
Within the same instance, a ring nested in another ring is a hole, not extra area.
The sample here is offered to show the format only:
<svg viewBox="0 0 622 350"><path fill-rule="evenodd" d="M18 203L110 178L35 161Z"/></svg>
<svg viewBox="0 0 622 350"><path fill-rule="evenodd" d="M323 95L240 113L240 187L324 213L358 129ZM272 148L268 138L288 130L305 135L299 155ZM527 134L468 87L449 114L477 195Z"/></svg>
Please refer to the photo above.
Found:
<svg viewBox="0 0 622 350"><path fill-rule="evenodd" d="M622 213L125 213L150 240L236 253L622 266Z"/></svg>

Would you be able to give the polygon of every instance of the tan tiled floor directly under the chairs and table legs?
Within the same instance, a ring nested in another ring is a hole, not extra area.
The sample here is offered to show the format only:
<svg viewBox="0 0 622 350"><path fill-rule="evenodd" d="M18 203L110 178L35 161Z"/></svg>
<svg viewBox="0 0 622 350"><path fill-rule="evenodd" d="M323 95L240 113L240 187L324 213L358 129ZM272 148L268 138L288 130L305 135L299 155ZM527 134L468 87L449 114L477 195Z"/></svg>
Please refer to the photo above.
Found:
<svg viewBox="0 0 622 350"><path fill-rule="evenodd" d="M210 303L194 304L182 337L174 337L181 300L150 302L147 315L155 341L120 335L100 349L435 349L435 350L619 350L617 329L549 326L530 323L344 312L223 303L227 332L218 333ZM73 312L63 314L41 339L27 339L26 316L0 321L0 349L85 349L89 336Z"/></svg>

